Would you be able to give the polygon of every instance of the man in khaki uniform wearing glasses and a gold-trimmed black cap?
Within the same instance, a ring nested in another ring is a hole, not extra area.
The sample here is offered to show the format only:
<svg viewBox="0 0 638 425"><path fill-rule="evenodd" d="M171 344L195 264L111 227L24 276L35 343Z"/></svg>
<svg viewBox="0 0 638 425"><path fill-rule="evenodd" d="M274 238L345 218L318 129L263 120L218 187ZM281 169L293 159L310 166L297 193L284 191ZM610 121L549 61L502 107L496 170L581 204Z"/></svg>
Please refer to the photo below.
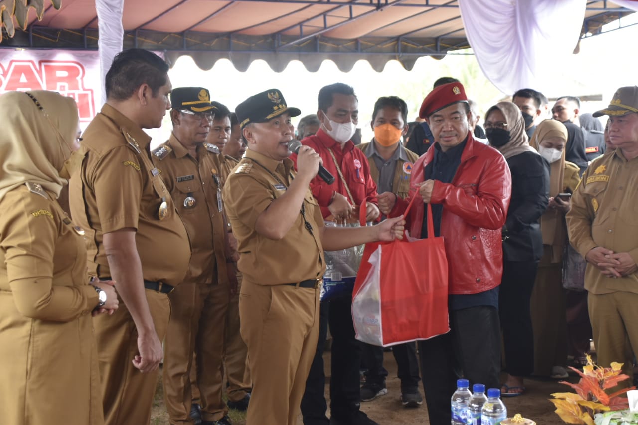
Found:
<svg viewBox="0 0 638 425"><path fill-rule="evenodd" d="M171 104L173 132L168 142L152 151L152 160L175 200L193 254L184 282L169 296L172 312L165 343L164 399L171 424L194 423L189 416L194 352L202 423L228 425L220 368L229 276L234 282L236 278L234 262L226 260L219 151L205 143L216 108L202 87L174 89Z"/></svg>

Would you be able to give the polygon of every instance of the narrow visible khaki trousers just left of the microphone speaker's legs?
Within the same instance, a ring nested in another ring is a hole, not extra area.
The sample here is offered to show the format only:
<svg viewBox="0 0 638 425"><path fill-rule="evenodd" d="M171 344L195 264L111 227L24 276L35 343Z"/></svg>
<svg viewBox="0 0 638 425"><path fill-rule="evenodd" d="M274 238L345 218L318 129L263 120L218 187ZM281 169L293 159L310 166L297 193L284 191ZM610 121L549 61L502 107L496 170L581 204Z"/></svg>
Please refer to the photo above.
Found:
<svg viewBox="0 0 638 425"><path fill-rule="evenodd" d="M224 366L228 380L228 399L239 401L251 389L250 369L248 368L248 347L239 333L239 291L242 275L237 272L237 294L230 295L228 315L226 316L226 332L224 334Z"/></svg>

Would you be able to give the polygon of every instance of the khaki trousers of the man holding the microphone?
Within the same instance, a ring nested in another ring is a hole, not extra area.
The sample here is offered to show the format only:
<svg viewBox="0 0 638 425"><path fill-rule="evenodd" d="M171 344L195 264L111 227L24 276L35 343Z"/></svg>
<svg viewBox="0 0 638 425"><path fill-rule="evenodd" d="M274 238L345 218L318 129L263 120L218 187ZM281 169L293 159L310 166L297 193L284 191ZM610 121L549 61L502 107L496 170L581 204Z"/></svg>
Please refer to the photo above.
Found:
<svg viewBox="0 0 638 425"><path fill-rule="evenodd" d="M297 425L319 334L320 292L244 278L239 316L253 378L246 425Z"/></svg>

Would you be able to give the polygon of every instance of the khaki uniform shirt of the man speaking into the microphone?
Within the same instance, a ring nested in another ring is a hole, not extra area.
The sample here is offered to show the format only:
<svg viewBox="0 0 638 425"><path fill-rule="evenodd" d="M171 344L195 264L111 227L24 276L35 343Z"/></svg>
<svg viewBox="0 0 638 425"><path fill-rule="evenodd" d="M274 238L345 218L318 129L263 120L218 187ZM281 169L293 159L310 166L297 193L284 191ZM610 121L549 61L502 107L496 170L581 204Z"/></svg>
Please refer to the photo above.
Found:
<svg viewBox="0 0 638 425"><path fill-rule="evenodd" d="M263 168L265 167L265 168ZM286 193L295 175L291 160L271 160L246 151L235 172L228 176L223 198L239 247L239 270L244 280L259 285L282 285L323 276L325 260L320 239L323 218L310 189L304 198L306 230L302 215L279 241L260 235L255 223L272 201Z"/></svg>

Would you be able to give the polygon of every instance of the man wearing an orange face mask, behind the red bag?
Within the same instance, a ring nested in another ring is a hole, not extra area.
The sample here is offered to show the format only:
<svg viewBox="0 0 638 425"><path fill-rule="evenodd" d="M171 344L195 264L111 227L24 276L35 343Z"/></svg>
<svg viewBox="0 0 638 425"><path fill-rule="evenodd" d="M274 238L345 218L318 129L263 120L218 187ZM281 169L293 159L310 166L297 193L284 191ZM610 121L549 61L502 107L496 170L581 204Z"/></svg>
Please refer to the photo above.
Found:
<svg viewBox="0 0 638 425"><path fill-rule="evenodd" d="M370 175L378 193L391 192L397 197L410 195L410 174L417 154L404 148L401 137L408 131L408 105L397 96L378 98L370 123L375 137L369 143L357 145L366 154ZM371 401L387 394L383 368L383 348L361 343L362 363L366 371L366 383L361 387L361 401ZM418 407L423 403L419 393L419 359L415 343L392 347L397 362L397 375L401 380L401 404Z"/></svg>

